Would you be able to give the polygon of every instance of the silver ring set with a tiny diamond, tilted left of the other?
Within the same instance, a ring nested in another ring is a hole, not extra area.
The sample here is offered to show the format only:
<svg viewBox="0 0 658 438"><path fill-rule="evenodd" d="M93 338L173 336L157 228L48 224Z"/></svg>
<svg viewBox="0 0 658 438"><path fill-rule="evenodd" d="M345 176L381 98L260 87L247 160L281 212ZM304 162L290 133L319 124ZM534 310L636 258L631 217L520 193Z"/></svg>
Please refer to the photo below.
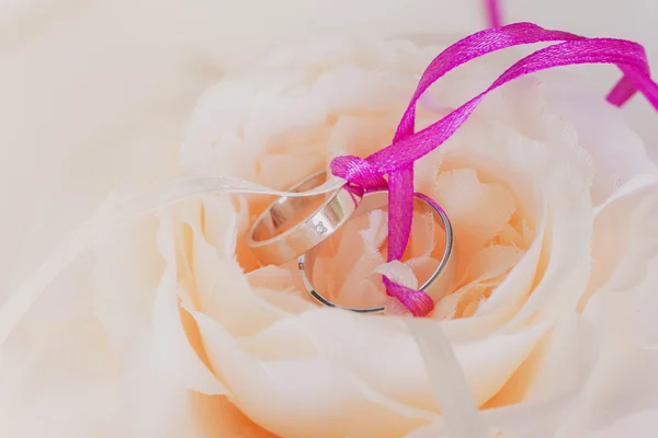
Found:
<svg viewBox="0 0 658 438"><path fill-rule="evenodd" d="M327 172L315 173L287 192L306 192L327 181ZM340 188L317 196L282 196L254 221L247 244L264 265L280 265L310 251L347 222L361 197Z"/></svg>

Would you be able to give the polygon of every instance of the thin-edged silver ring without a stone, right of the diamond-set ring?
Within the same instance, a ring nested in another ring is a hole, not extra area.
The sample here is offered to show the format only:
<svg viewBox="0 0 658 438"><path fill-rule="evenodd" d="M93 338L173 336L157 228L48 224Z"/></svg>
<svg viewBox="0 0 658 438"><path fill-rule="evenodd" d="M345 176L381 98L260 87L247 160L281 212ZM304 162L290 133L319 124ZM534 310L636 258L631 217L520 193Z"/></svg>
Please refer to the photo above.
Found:
<svg viewBox="0 0 658 438"><path fill-rule="evenodd" d="M376 208L381 208L388 203L388 192L387 191L376 191L368 192L363 195L363 203L361 203L358 211L354 216L359 216L362 214L367 214ZM432 273L432 275L422 284L419 290L426 291L431 286L441 286L442 290L447 290L447 288L452 284L453 277L453 268L454 263L453 260L453 245L454 245L454 235L452 224L445 211L441 207L439 207L432 199L428 198L422 194L415 194L413 203L416 206L419 206L422 210L431 211L435 217L439 218L440 223L445 231L445 250L443 251L443 256L439 262L439 265ZM372 207L372 206L375 207ZM317 289L313 286L313 279L310 273L313 273L313 267L315 263L315 257L318 253L320 246L314 247L306 254L300 255L297 258L297 264L299 268L299 274L302 276L302 281L304 287L310 293L310 296L320 302L324 306L339 308L343 310L350 310L352 312L359 313L381 313L384 312L384 307L375 307L375 308L351 308L345 306L337 304L326 297L324 297ZM443 275L442 275L443 274ZM439 280L440 279L440 280ZM438 281L439 280L439 281ZM440 285L439 285L439 284Z"/></svg>

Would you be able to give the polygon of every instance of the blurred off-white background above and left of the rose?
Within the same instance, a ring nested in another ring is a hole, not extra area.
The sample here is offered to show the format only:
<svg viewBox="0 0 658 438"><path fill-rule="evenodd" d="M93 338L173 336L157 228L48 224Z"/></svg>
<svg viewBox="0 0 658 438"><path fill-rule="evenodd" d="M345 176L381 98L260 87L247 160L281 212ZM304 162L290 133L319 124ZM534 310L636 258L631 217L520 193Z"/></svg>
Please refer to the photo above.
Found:
<svg viewBox="0 0 658 438"><path fill-rule="evenodd" d="M642 42L658 69L656 0L502 3L506 22ZM188 113L227 66L315 35L484 25L480 0L3 0L0 297L112 187L174 171ZM602 93L619 77L588 71ZM657 147L658 115L639 96L627 113Z"/></svg>

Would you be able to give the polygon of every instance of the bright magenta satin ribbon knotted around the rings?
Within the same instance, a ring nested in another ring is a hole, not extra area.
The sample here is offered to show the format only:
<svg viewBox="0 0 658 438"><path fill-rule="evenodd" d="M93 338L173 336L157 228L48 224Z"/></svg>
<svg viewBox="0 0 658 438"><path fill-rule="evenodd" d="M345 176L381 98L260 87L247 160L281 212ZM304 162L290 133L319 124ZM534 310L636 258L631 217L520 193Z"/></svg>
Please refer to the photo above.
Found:
<svg viewBox="0 0 658 438"><path fill-rule="evenodd" d="M416 132L416 104L426 90L454 68L491 51L541 42L560 42L540 49L503 72L487 90L439 122ZM388 188L388 261L399 260L411 232L413 214L413 163L447 140L492 90L517 78L559 66L612 64L624 73L617 94L629 97L639 90L658 110L658 85L650 78L644 48L613 38L586 38L567 32L544 30L532 23L515 23L478 32L441 53L423 72L411 102L398 125L393 143L365 159L345 155L331 162L331 172L363 189ZM384 178L388 175L388 181ZM384 278L386 291L415 316L433 309L427 293Z"/></svg>

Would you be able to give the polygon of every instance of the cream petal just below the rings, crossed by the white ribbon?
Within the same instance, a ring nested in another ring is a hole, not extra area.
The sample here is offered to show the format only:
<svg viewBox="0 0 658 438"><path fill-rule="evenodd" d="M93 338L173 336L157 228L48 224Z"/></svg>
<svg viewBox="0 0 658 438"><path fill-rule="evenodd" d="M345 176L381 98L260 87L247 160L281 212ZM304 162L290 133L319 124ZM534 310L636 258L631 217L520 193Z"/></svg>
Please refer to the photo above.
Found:
<svg viewBox="0 0 658 438"><path fill-rule="evenodd" d="M299 318L299 330L315 339L327 360L347 367L397 401L436 408L416 344L406 331L396 328L395 319L364 318L328 309L305 312ZM546 330L534 326L455 345L478 404L502 388Z"/></svg>

